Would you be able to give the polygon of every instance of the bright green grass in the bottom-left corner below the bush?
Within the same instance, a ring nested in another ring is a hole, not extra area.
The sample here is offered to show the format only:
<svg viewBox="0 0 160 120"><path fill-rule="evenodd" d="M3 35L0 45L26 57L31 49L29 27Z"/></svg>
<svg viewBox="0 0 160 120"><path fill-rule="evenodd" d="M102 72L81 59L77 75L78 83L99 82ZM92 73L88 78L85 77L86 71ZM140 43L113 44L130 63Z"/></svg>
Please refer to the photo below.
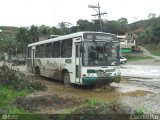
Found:
<svg viewBox="0 0 160 120"><path fill-rule="evenodd" d="M5 114L7 117L16 118L19 120L48 120L45 115L35 113L27 113L14 105L14 101L20 97L28 94L27 89L14 90L10 86L0 85L0 114Z"/></svg>

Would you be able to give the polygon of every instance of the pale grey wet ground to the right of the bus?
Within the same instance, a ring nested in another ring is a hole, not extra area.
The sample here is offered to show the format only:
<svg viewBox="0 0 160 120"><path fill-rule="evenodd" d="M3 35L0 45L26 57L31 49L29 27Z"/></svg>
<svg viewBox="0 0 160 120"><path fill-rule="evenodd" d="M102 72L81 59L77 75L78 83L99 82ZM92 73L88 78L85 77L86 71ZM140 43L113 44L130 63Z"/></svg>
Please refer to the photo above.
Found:
<svg viewBox="0 0 160 120"><path fill-rule="evenodd" d="M148 114L160 113L160 61L156 59L122 65L122 82L118 91L123 93L148 92L142 96L121 96L121 102L139 108Z"/></svg>

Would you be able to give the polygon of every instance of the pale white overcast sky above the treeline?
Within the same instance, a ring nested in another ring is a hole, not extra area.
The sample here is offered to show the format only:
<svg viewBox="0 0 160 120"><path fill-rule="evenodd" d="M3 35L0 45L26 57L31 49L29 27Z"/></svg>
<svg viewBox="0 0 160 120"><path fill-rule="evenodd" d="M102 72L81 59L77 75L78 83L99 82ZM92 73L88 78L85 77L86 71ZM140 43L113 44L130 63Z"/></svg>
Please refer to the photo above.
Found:
<svg viewBox="0 0 160 120"><path fill-rule="evenodd" d="M160 15L160 0L0 0L0 26L76 25L79 19L94 19L96 11L88 5L98 3L108 20L125 17L131 23L147 19L149 13Z"/></svg>

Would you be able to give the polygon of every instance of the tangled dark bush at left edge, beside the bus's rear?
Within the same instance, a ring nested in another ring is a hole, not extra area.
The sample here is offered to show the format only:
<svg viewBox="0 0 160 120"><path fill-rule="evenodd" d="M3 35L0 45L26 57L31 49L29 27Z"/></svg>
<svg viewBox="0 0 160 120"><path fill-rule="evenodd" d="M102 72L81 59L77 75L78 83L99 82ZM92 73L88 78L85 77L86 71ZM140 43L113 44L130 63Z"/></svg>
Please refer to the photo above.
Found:
<svg viewBox="0 0 160 120"><path fill-rule="evenodd" d="M0 67L0 84L9 85L16 90L27 89L29 92L46 88L40 82L29 79L24 73L5 63Z"/></svg>

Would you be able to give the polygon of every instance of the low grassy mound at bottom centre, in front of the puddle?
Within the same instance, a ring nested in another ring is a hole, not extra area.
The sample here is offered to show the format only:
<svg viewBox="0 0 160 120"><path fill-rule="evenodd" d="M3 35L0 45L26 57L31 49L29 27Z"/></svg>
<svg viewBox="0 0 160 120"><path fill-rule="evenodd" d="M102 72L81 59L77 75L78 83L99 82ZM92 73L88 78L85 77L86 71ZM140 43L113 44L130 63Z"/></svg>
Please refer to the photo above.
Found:
<svg viewBox="0 0 160 120"><path fill-rule="evenodd" d="M122 106L118 103L89 98L86 103L70 110L70 113L62 113L56 118L59 120L125 120L130 118L130 109L128 106Z"/></svg>

